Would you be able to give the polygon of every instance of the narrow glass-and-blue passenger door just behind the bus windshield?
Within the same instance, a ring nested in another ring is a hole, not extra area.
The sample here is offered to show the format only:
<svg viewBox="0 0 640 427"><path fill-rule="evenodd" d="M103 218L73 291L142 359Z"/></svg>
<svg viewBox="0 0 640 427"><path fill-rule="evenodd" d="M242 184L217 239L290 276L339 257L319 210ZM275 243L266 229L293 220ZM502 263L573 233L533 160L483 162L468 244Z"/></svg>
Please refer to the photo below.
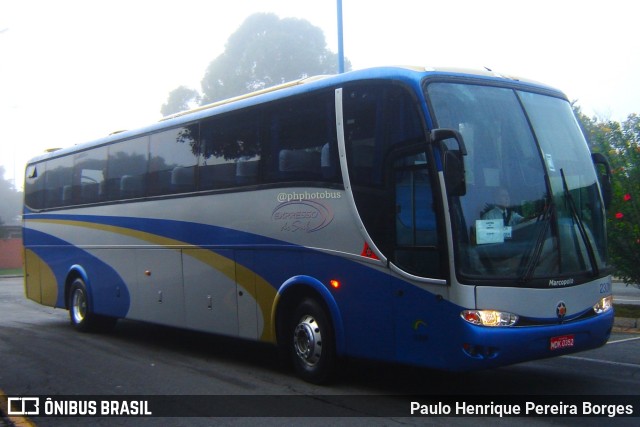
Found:
<svg viewBox="0 0 640 427"><path fill-rule="evenodd" d="M393 155L388 166L393 194L394 230L390 261L392 268L409 280L394 290L395 340L398 360L415 363L431 357L442 330L436 326L444 305L424 286L446 295L446 262L439 244L438 215L433 176L424 151ZM417 282L421 282L418 284ZM423 286L420 291L416 286Z"/></svg>

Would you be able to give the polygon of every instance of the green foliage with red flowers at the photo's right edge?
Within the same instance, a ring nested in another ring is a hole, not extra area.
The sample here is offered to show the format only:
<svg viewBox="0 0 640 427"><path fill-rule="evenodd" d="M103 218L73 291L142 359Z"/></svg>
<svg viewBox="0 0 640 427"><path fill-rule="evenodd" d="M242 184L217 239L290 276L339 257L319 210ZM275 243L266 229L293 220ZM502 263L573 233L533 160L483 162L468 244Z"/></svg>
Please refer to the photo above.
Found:
<svg viewBox="0 0 640 427"><path fill-rule="evenodd" d="M574 106L575 108L575 106ZM611 164L613 200L607 212L609 255L625 283L640 283L640 116L623 123L577 116L594 152Z"/></svg>

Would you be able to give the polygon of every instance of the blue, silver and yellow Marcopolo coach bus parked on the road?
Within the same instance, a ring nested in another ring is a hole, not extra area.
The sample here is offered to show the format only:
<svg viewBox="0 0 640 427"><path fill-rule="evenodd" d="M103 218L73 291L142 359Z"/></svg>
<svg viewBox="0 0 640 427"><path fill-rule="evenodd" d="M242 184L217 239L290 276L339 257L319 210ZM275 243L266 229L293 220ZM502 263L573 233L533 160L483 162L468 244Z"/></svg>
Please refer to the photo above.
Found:
<svg viewBox="0 0 640 427"><path fill-rule="evenodd" d="M25 293L80 331L272 343L314 383L346 358L464 371L592 349L614 316L605 163L533 81L302 79L29 161Z"/></svg>

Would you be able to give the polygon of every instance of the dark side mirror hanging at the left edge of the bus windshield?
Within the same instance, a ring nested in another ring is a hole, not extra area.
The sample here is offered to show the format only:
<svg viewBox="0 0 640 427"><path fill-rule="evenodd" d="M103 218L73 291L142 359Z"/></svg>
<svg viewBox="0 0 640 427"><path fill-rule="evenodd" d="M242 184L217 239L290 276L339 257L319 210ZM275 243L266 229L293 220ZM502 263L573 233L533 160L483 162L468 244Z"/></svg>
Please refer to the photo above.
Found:
<svg viewBox="0 0 640 427"><path fill-rule="evenodd" d="M455 141L457 148L451 148L451 142ZM440 146L442 153L442 170L444 181L449 196L464 196L467 193L465 181L464 156L467 148L464 145L460 132L453 129L434 129L431 131L430 143Z"/></svg>

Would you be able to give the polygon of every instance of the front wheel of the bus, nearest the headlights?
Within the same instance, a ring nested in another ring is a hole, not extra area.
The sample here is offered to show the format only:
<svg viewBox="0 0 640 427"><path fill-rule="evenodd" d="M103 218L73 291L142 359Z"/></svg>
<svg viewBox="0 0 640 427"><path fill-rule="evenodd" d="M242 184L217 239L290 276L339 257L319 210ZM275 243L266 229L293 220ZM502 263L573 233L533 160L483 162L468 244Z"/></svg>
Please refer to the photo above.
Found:
<svg viewBox="0 0 640 427"><path fill-rule="evenodd" d="M326 311L315 299L306 298L291 320L290 354L296 373L310 383L328 382L336 368L336 346Z"/></svg>

